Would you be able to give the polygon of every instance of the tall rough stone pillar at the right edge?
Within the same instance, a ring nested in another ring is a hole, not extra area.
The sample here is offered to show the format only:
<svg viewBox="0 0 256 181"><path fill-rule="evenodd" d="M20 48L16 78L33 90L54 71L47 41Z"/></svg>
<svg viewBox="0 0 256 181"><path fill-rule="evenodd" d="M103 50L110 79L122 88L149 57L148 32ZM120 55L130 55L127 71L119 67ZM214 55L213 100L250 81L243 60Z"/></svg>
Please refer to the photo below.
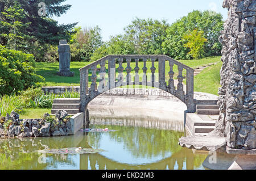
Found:
<svg viewBox="0 0 256 181"><path fill-rule="evenodd" d="M220 36L222 49L220 117L215 133L233 149L256 148L256 2L225 0L228 20Z"/></svg>

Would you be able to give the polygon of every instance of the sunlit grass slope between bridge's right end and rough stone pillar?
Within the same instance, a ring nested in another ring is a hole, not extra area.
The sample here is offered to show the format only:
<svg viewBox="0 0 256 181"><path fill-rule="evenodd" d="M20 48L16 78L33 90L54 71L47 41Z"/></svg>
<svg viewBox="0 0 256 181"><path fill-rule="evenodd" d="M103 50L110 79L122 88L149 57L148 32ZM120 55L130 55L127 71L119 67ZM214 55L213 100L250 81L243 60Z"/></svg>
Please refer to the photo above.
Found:
<svg viewBox="0 0 256 181"><path fill-rule="evenodd" d="M194 90L197 92L207 92L210 94L218 95L218 88L220 85L220 69L222 62L210 66L201 71L194 78Z"/></svg>

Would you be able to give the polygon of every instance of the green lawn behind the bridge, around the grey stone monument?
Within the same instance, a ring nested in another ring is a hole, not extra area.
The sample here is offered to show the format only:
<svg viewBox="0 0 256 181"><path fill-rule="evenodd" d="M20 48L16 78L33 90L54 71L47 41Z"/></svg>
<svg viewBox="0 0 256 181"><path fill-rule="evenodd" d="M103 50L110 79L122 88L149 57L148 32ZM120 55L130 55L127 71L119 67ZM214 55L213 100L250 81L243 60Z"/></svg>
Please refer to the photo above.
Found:
<svg viewBox="0 0 256 181"><path fill-rule="evenodd" d="M179 60L182 64L185 64L191 68L199 68L200 66L208 65L210 63L220 61L220 57L207 57L200 60ZM59 62L47 63L36 62L36 73L46 78L46 86L80 86L80 73L79 69L90 64L91 62L71 62L71 71L75 72L75 77L60 77L57 75L59 71ZM118 64L116 64L118 68ZM123 68L126 68L126 62L123 63ZM131 62L131 68L135 68L135 62ZM139 62L139 73L142 73L143 62ZM150 71L151 62L147 62L147 68ZM155 63L156 73L158 73L158 63ZM106 65L108 69L108 65ZM107 70L108 71L108 70ZM148 71L148 72L149 72ZM168 62L166 61L166 80L168 79L168 72L170 71ZM133 70L132 73L135 71ZM177 66L174 66L175 78L177 77ZM185 74L185 71L184 71ZM123 75L126 75L125 70ZM90 79L89 79L90 81ZM90 84L90 83L89 83Z"/></svg>

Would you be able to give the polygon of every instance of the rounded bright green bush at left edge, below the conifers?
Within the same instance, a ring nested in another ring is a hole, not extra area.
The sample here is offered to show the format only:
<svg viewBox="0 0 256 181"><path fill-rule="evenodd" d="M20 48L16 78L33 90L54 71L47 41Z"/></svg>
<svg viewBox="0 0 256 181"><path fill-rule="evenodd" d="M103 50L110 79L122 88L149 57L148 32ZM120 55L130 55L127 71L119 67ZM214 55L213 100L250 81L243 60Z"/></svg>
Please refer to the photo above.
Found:
<svg viewBox="0 0 256 181"><path fill-rule="evenodd" d="M39 86L44 78L35 73L32 54L9 50L0 45L0 95Z"/></svg>

